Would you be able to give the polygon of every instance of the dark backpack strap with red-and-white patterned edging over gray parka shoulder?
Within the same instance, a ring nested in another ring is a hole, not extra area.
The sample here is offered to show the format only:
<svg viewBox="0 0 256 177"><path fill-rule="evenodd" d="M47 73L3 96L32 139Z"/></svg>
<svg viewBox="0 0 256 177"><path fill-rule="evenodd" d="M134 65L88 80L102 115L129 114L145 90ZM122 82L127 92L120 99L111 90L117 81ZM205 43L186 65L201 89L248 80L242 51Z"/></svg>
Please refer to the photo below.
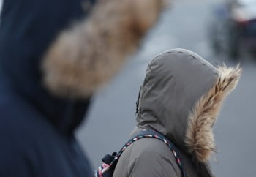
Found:
<svg viewBox="0 0 256 177"><path fill-rule="evenodd" d="M136 140L140 140L141 138L155 138L158 140L162 140L169 148L170 151L172 152L173 156L176 159L178 167L181 169L181 173L183 177L187 177L186 170L184 169L184 165L181 162L181 158L179 157L176 147L173 145L173 143L170 142L165 136L160 134L159 132L156 132L154 130L149 130L149 129L142 129L139 131L136 135L133 136L133 138L129 139L127 143L124 144L124 146L121 148L118 153L113 153L112 156L107 154L102 161L105 162L99 169L94 173L94 175L102 176L103 173L106 171L116 167L116 164L118 162L119 157L121 157L121 154L124 152L124 150L129 147L132 143L134 143Z"/></svg>

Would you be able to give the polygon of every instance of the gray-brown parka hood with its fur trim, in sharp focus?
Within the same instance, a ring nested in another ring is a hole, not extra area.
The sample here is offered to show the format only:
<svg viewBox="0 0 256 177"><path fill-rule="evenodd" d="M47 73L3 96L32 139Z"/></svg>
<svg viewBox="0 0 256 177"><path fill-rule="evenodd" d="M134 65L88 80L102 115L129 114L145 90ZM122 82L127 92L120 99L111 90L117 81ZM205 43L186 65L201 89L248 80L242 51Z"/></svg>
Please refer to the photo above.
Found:
<svg viewBox="0 0 256 177"><path fill-rule="evenodd" d="M160 54L140 87L138 127L157 130L197 162L207 162L215 149L212 126L240 73L239 67L214 67L189 50Z"/></svg>

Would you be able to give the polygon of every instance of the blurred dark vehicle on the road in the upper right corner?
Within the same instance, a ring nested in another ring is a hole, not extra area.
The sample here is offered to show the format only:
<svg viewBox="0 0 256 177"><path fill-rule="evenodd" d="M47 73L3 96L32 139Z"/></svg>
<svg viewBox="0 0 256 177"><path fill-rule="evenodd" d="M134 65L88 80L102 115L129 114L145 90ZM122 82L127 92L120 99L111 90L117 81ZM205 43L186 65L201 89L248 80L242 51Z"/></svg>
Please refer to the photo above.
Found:
<svg viewBox="0 0 256 177"><path fill-rule="evenodd" d="M232 0L214 9L210 28L215 52L237 59L241 48L256 51L256 0Z"/></svg>

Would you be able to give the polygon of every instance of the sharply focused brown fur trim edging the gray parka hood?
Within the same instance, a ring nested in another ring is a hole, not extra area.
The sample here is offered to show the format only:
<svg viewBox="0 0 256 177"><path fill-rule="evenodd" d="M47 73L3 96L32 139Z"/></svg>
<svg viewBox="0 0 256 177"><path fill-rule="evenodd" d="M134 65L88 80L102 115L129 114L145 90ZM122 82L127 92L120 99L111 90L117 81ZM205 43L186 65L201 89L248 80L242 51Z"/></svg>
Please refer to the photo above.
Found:
<svg viewBox="0 0 256 177"><path fill-rule="evenodd" d="M219 77L217 83L211 87L207 94L203 95L189 114L188 128L185 143L189 153L194 154L200 162L206 162L215 151L214 135L212 127L227 94L238 83L241 69L218 67Z"/></svg>

